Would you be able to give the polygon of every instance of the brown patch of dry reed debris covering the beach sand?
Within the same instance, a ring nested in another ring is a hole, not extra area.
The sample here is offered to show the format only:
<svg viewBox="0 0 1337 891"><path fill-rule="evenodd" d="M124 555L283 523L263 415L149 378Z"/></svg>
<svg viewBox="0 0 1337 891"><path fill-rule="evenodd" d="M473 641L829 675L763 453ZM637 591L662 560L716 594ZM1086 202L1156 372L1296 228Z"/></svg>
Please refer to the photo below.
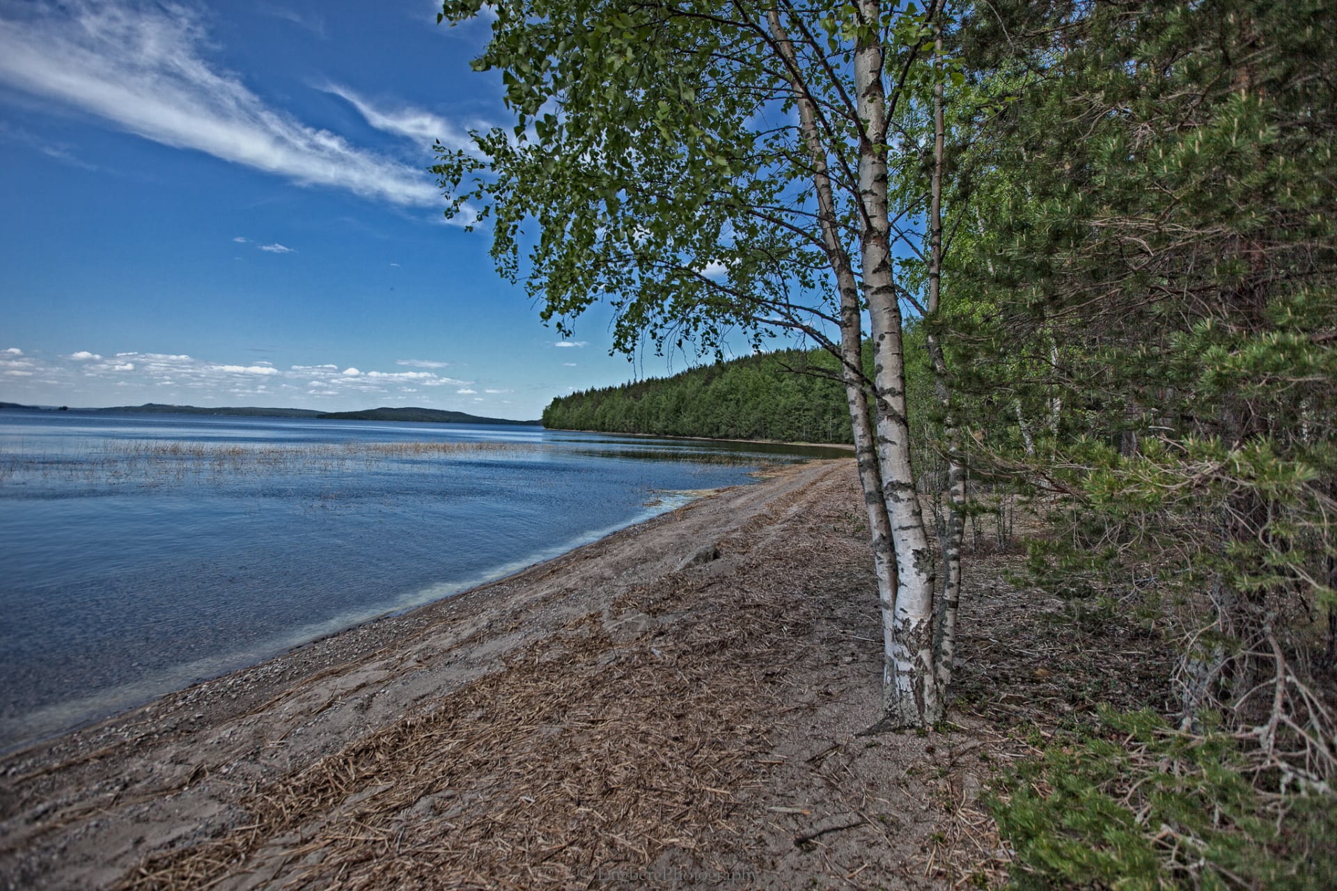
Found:
<svg viewBox="0 0 1337 891"><path fill-rule="evenodd" d="M779 614L614 649L596 617L417 715L257 789L247 826L151 860L126 888L209 887L243 863L282 887L564 887L734 828L755 781Z"/></svg>

